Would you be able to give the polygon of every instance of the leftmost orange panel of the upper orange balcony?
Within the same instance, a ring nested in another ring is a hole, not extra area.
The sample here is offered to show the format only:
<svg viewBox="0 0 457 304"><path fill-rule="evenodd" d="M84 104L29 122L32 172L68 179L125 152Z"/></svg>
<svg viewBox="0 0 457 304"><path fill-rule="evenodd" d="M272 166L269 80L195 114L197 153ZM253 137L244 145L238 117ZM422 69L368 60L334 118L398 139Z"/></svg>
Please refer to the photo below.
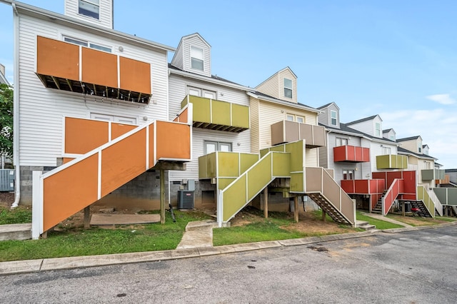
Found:
<svg viewBox="0 0 457 304"><path fill-rule="evenodd" d="M37 36L36 73L79 80L79 46Z"/></svg>

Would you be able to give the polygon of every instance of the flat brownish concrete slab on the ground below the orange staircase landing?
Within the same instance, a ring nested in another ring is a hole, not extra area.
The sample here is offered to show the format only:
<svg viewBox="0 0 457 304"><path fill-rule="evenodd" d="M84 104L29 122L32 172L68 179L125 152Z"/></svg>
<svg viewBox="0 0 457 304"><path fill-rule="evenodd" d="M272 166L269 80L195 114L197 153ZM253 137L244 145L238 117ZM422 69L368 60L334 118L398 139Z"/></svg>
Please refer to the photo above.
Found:
<svg viewBox="0 0 457 304"><path fill-rule="evenodd" d="M159 214L93 214L91 225L129 225L159 223Z"/></svg>

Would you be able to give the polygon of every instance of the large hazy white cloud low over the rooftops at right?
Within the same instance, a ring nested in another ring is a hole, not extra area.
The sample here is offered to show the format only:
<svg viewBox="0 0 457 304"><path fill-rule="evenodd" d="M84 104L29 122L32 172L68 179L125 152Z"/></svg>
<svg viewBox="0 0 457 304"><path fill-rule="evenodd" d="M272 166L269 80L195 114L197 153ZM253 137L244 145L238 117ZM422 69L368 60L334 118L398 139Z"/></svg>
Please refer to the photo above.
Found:
<svg viewBox="0 0 457 304"><path fill-rule="evenodd" d="M383 128L393 128L397 138L420 135L430 155L444 168L457 168L457 111L442 108L379 113Z"/></svg>

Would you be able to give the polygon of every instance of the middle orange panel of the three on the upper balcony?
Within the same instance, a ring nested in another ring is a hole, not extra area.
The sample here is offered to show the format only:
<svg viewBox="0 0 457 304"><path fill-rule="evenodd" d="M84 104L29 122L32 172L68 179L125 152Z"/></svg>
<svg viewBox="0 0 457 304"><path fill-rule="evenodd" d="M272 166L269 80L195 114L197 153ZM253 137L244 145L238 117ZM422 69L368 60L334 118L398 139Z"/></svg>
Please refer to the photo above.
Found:
<svg viewBox="0 0 457 304"><path fill-rule="evenodd" d="M117 88L117 56L82 48L82 81ZM93 89L93 88L92 88Z"/></svg>

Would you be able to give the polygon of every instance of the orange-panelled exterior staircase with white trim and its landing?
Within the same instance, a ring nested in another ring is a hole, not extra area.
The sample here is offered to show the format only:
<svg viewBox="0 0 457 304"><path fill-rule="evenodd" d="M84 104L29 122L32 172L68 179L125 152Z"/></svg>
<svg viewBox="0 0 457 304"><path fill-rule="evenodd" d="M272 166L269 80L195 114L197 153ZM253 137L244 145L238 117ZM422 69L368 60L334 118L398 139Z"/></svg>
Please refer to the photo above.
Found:
<svg viewBox="0 0 457 304"><path fill-rule="evenodd" d="M84 126L94 122L81 121L86 123ZM39 238L74 213L154 168L159 161L190 161L191 123L189 105L174 121L151 121L114 139L107 135L107 142L101 146L52 171L34 171L32 238ZM85 131L79 133L90 138L87 134L91 132ZM106 128L107 134L111 135L111 131Z"/></svg>

